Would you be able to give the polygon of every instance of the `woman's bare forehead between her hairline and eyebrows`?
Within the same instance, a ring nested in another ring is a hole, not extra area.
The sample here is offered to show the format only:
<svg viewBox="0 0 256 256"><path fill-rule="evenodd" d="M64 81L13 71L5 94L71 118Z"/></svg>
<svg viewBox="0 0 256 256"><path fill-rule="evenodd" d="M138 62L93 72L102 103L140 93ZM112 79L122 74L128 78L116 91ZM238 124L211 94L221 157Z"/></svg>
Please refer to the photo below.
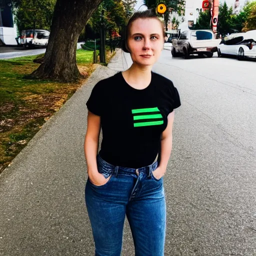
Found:
<svg viewBox="0 0 256 256"><path fill-rule="evenodd" d="M162 25L156 18L138 18L131 23L130 34L162 34Z"/></svg>

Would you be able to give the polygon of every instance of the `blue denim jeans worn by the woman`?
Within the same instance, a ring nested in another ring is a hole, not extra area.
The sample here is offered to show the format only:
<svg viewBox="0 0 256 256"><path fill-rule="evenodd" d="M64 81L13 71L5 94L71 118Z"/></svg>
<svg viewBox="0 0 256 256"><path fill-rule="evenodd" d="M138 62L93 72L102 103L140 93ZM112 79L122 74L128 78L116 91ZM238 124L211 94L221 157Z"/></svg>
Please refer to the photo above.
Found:
<svg viewBox="0 0 256 256"><path fill-rule="evenodd" d="M85 202L95 242L95 256L120 256L125 214L135 256L163 256L166 206L163 178L156 179L157 161L139 169L113 166L97 155L104 185L85 185Z"/></svg>

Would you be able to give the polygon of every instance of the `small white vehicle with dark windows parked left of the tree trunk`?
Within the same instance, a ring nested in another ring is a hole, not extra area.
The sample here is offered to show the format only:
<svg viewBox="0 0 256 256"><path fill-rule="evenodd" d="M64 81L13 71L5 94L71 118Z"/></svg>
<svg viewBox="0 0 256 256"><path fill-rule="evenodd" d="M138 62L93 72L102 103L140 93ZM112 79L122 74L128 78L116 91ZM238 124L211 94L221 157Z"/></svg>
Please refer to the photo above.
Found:
<svg viewBox="0 0 256 256"><path fill-rule="evenodd" d="M46 47L50 32L43 29L26 29L16 38L17 44L24 47Z"/></svg>

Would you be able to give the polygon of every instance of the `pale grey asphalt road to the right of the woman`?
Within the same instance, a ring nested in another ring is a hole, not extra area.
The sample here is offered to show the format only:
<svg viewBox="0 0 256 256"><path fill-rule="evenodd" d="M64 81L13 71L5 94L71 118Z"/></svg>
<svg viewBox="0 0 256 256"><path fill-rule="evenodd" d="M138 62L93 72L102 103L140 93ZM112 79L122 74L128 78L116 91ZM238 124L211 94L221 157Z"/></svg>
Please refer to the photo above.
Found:
<svg viewBox="0 0 256 256"><path fill-rule="evenodd" d="M166 255L256 255L256 62L171 58L178 88L165 191Z"/></svg>

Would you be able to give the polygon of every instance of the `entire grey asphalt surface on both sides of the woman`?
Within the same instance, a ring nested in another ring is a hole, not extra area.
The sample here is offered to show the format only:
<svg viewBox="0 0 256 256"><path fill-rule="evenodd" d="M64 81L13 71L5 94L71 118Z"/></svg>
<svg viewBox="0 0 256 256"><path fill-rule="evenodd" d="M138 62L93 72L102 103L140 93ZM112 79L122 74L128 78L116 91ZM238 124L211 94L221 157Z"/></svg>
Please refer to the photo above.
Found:
<svg viewBox="0 0 256 256"><path fill-rule="evenodd" d="M85 102L96 81L129 63L116 54L97 69L1 173L0 255L94 255L83 194ZM173 81L182 104L164 176L165 255L255 256L256 62L163 50L153 70ZM127 221L123 238L122 255L133 256Z"/></svg>

